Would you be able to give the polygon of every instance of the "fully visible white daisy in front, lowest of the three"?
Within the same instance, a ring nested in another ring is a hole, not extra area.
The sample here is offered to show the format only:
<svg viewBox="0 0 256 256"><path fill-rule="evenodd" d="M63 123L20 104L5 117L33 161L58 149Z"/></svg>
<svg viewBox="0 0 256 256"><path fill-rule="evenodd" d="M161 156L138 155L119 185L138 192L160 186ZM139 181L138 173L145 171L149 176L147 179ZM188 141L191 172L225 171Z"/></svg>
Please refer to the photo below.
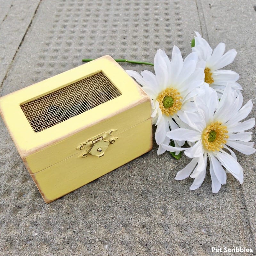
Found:
<svg viewBox="0 0 256 256"><path fill-rule="evenodd" d="M252 148L254 143L250 142L252 132L245 132L255 125L254 118L240 122L251 112L252 101L249 100L241 108L242 94L236 97L236 92L227 85L220 101L216 92L206 86L205 94L195 97L195 103L197 112L188 112L183 115L183 121L190 126L190 129L179 128L167 133L167 136L174 140L196 142L194 146L176 148L163 145L163 148L169 151L184 150L186 156L193 158L177 173L175 179L183 180L193 171L190 177L195 180L190 189L199 188L204 181L208 157L213 193L217 193L221 184L226 183L226 172L230 172L242 184L243 169L229 147L245 155L256 151ZM223 167L226 168L226 172Z"/></svg>

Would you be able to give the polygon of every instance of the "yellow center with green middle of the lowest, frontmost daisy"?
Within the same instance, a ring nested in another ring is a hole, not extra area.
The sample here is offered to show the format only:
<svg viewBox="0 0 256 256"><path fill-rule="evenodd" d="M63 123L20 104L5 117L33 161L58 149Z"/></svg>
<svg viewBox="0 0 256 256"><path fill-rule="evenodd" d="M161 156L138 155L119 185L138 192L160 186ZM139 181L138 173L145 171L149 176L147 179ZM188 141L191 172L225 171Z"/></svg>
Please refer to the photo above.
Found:
<svg viewBox="0 0 256 256"><path fill-rule="evenodd" d="M209 151L220 151L227 142L227 126L221 124L220 122L212 122L203 131L203 145Z"/></svg>

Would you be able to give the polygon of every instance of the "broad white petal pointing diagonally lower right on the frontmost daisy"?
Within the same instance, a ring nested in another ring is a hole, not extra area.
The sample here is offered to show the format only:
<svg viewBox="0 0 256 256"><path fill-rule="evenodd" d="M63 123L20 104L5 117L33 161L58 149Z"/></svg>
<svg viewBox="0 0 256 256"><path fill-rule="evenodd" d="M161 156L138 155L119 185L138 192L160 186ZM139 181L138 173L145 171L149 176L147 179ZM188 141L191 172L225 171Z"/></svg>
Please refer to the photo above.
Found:
<svg viewBox="0 0 256 256"><path fill-rule="evenodd" d="M214 153L214 156L220 161L220 163L230 172L240 184L244 182L243 168L237 163L236 159L228 155L225 151L221 150Z"/></svg>

